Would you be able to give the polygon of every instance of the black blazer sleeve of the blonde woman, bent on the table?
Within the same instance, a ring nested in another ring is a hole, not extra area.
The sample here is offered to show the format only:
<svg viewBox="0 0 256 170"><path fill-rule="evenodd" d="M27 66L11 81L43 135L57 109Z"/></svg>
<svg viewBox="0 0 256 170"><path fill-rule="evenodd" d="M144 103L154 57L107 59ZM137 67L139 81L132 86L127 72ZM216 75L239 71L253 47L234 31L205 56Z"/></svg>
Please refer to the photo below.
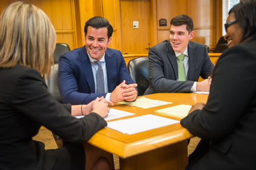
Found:
<svg viewBox="0 0 256 170"><path fill-rule="evenodd" d="M28 119L52 130L68 142L85 142L107 126L96 113L82 119L71 116L62 104L53 99L40 73L34 69L25 71L17 80L12 91L12 104Z"/></svg>

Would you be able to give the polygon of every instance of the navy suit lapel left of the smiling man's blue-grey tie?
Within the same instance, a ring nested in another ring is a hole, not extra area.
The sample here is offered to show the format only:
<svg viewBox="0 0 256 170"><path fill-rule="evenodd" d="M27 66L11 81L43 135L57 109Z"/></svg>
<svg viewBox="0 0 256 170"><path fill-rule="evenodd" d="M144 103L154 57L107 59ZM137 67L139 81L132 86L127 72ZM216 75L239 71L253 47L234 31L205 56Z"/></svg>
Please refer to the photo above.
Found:
<svg viewBox="0 0 256 170"><path fill-rule="evenodd" d="M91 93L95 93L95 83L91 68L91 61L89 60L89 56L87 54L85 46L82 47L81 53L77 59L82 68L82 73L84 74L85 79L87 80Z"/></svg>

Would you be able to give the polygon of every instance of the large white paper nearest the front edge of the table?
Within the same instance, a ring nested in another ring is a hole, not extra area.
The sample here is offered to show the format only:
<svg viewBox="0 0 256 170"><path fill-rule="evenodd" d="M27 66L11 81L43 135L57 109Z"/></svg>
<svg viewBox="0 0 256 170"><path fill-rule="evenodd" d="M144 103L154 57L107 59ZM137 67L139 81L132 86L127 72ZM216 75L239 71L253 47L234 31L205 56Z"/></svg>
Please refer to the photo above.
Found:
<svg viewBox="0 0 256 170"><path fill-rule="evenodd" d="M178 120L172 120L161 116L143 115L129 119L108 122L107 127L117 130L121 133L132 135L135 133L161 128L163 126L168 126L179 122L180 121Z"/></svg>

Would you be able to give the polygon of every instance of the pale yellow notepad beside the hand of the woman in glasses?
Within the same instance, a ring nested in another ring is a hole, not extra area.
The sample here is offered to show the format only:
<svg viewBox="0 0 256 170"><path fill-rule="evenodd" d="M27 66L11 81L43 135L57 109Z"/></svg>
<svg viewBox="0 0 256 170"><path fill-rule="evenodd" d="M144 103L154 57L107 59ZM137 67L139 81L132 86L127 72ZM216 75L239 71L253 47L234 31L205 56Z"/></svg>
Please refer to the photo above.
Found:
<svg viewBox="0 0 256 170"><path fill-rule="evenodd" d="M155 110L155 113L161 113L164 115L184 118L188 115L189 110L192 106L180 104L178 106L167 107L165 109Z"/></svg>

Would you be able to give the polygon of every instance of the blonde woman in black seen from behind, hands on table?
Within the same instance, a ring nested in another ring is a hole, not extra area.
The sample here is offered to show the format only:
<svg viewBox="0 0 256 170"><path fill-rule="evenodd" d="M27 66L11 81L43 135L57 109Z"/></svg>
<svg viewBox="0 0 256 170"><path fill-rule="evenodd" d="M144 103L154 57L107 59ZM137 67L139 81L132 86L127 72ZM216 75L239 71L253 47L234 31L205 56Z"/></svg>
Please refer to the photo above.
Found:
<svg viewBox="0 0 256 170"><path fill-rule="evenodd" d="M41 9L15 2L2 12L0 169L85 169L84 148L79 143L107 125L105 99L97 98L87 106L61 105L48 93L41 75L49 76L55 44L55 30ZM76 119L71 112L87 116ZM44 150L43 143L32 140L42 125L70 143ZM94 169L108 168L99 162Z"/></svg>

